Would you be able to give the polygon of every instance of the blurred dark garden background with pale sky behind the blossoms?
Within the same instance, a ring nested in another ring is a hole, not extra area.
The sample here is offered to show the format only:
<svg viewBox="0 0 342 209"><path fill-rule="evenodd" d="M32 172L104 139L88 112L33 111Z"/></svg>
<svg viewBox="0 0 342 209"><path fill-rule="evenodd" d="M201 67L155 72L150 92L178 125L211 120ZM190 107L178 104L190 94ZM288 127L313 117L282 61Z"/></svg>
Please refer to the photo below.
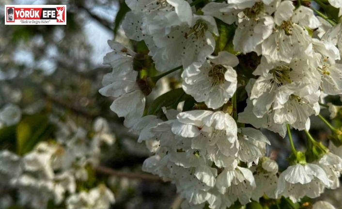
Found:
<svg viewBox="0 0 342 209"><path fill-rule="evenodd" d="M67 25L4 25L5 4L66 4ZM138 46L125 38L120 27L128 10L124 0L0 0L0 110L8 104L21 110L16 123L0 122L0 150L25 156L42 142L56 141L66 147L80 130L85 132L84 143L88 145L99 132L96 121L100 120L107 124L102 125L106 126L106 136L101 132L106 143L99 145L95 162L86 169L86 183L77 183L77 191L105 184L115 195L113 209L177 208L180 199L175 187L141 171L143 161L152 154L123 126L123 118L110 111L113 98L98 93L104 74L111 72L102 64L111 51L107 40ZM172 77L166 79L158 83L152 97L179 84ZM326 101L342 105L339 96L327 97ZM240 102L238 111L245 106ZM327 110L322 114L328 118ZM339 121L341 114L334 123ZM313 117L311 127L312 135L326 143L329 130L324 123ZM280 170L286 168L288 140L264 133L272 144L268 156L280 163ZM294 132L294 138L304 149L303 133ZM33 208L23 203L17 187L10 187L1 176L1 166L6 164L0 164L0 209ZM327 192L325 198L339 206L342 191ZM66 205L49 201L45 207L65 209Z"/></svg>

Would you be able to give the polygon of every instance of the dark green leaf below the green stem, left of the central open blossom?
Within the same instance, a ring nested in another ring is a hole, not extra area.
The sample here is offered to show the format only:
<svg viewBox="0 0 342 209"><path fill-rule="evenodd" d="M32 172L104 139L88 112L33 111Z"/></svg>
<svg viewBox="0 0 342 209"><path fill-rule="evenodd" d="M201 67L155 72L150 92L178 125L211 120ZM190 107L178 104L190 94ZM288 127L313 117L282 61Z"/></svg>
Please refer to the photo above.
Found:
<svg viewBox="0 0 342 209"><path fill-rule="evenodd" d="M180 96L182 96L182 98L180 98ZM156 98L152 102L151 106L148 108L147 115L150 115L150 114L156 115L158 112L161 111L162 107L169 107L171 105L174 105L177 101L181 102L181 101L186 100L187 98L190 98L190 96L186 95L182 88L173 89L159 96L158 98Z"/></svg>

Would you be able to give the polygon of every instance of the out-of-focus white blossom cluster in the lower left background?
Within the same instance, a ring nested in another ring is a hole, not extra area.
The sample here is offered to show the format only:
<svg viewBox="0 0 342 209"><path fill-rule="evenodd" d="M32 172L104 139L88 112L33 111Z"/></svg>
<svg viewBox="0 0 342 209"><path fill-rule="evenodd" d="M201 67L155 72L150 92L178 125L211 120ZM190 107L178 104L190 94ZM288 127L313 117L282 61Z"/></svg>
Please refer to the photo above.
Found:
<svg viewBox="0 0 342 209"><path fill-rule="evenodd" d="M7 105L4 112L1 115L8 116L7 122L21 115L15 105ZM17 191L17 203L31 209L46 209L49 201L64 203L67 209L108 209L114 203L114 194L104 184L88 192L79 188L89 179L88 170L99 161L100 145L115 141L107 121L94 121L91 138L71 120L51 121L58 127L57 141L39 142L23 156L0 151L0 187ZM12 201L9 197L8 203Z"/></svg>

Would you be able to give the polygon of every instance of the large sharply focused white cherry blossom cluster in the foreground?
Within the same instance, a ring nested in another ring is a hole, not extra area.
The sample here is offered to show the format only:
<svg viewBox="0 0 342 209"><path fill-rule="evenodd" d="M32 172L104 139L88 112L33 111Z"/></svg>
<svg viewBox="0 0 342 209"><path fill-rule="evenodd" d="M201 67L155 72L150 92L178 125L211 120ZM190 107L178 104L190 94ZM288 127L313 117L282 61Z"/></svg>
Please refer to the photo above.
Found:
<svg viewBox="0 0 342 209"><path fill-rule="evenodd" d="M185 199L183 208L226 209L264 196L295 203L340 186L341 129L322 118L333 133L329 149L308 132L324 97L342 94L340 23L303 0L125 2L131 11L124 32L148 53L109 41L113 51L104 64L113 71L99 92L114 97L110 109L154 153L142 169L172 181ZM342 8L341 0L316 2ZM232 32L230 42L224 42L230 37L224 31ZM251 54L258 60L249 60L255 67L247 68L248 77L242 62ZM151 68L160 74L140 73ZM160 78L177 70L183 94L149 114L146 98ZM238 87L248 98L237 114ZM196 101L192 108L178 105L189 97ZM328 106L332 117L340 111ZM307 152L295 150L290 128L306 132ZM281 173L259 129L283 138L288 133L290 166ZM330 206L318 202L313 208Z"/></svg>

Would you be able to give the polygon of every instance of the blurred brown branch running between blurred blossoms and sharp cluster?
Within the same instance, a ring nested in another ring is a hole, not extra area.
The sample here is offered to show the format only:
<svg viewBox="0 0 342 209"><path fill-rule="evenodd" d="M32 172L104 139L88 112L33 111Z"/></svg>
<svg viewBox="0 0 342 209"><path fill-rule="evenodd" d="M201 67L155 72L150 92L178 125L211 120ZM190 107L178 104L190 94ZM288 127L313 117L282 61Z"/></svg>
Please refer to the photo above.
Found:
<svg viewBox="0 0 342 209"><path fill-rule="evenodd" d="M123 171L117 171L117 170L103 167L103 166L96 166L94 167L94 169L98 173L113 175L116 177L141 179L141 180L146 180L146 181L163 181L160 177L150 175L150 174L128 173L128 172L123 172Z"/></svg>

